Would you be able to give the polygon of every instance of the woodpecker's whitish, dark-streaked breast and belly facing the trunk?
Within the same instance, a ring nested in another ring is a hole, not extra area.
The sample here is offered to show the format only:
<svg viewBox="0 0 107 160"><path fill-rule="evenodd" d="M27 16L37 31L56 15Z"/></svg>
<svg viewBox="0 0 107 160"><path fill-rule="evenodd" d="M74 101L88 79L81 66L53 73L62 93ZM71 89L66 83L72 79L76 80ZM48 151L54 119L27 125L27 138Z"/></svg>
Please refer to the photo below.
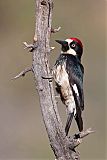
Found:
<svg viewBox="0 0 107 160"><path fill-rule="evenodd" d="M68 112L76 114L76 105L73 93L69 84L68 74L66 72L66 64L58 65L53 70L55 82L60 86L61 94L64 99ZM75 87L75 86L74 86Z"/></svg>

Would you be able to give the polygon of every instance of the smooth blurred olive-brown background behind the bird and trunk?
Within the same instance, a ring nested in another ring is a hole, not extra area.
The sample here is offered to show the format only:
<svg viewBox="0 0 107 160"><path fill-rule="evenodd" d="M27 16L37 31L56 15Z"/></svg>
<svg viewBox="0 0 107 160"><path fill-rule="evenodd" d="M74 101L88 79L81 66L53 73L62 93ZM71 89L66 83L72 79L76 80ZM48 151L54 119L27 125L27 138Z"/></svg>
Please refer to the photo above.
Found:
<svg viewBox="0 0 107 160"><path fill-rule="evenodd" d="M54 0L53 27L62 29L51 36L51 46L56 47L49 56L51 66L60 53L55 39L74 36L84 44L84 125L96 131L78 147L84 160L106 159L106 4L106 0ZM31 66L32 55L22 42L32 43L34 18L34 0L0 0L0 160L54 159L32 73L11 80ZM65 124L60 101L58 109ZM77 131L73 123L70 134Z"/></svg>

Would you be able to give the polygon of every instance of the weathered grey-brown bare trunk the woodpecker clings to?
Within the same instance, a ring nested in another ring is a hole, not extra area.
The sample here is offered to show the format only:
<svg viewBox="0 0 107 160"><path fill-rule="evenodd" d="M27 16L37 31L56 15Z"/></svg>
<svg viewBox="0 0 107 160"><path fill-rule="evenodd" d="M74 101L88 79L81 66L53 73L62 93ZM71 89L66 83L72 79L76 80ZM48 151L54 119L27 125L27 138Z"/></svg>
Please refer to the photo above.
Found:
<svg viewBox="0 0 107 160"><path fill-rule="evenodd" d="M52 82L42 77L50 77L48 54L52 21L52 0L36 1L37 48L33 51L33 72L40 97L43 120L50 140L50 145L58 160L72 159L67 145L67 137L58 114Z"/></svg>

